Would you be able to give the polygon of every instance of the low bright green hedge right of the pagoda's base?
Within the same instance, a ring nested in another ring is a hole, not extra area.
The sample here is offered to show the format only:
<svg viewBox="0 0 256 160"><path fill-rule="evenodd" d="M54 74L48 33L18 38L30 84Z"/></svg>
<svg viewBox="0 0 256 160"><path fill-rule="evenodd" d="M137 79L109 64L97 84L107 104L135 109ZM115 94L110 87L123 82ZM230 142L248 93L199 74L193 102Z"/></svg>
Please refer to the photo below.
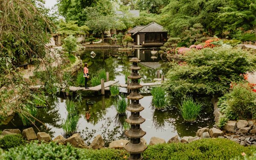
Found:
<svg viewBox="0 0 256 160"><path fill-rule="evenodd" d="M229 160L241 157L241 153L252 155L255 147L244 147L227 139L197 140L189 144L171 143L148 145L145 160Z"/></svg>

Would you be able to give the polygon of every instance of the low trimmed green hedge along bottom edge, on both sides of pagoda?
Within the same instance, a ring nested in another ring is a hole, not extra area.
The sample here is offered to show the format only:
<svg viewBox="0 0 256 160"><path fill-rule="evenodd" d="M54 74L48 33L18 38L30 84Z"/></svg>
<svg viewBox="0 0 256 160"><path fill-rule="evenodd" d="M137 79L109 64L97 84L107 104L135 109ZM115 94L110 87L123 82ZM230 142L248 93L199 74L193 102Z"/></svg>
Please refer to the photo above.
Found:
<svg viewBox="0 0 256 160"><path fill-rule="evenodd" d="M1 151L0 151L1 152ZM231 158L243 159L242 153L247 157L256 153L256 147L244 147L226 139L204 139L189 144L172 143L148 145L143 153L144 160L229 160ZM57 145L56 143L30 143L19 148L12 148L0 155L1 160L33 160L33 159L63 159L75 160L86 158L91 160L124 160L128 158L125 150L115 149L80 149L71 145ZM254 155L255 156L255 155Z"/></svg>

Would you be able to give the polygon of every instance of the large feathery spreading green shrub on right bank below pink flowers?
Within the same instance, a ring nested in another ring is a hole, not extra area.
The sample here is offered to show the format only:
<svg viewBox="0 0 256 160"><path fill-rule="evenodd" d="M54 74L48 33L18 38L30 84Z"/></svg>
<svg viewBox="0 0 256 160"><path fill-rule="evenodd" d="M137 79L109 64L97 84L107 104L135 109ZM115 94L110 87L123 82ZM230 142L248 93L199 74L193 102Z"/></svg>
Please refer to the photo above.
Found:
<svg viewBox="0 0 256 160"><path fill-rule="evenodd" d="M240 74L256 69L255 55L242 49L192 49L184 58L186 64L173 65L166 74L164 87L174 96L223 95L230 82L243 80Z"/></svg>

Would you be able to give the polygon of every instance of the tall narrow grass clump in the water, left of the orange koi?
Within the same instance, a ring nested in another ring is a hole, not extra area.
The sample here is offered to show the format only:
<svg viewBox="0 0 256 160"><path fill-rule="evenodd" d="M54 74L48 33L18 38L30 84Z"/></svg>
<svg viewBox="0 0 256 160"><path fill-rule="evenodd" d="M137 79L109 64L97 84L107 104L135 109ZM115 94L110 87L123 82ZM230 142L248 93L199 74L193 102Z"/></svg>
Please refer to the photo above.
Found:
<svg viewBox="0 0 256 160"><path fill-rule="evenodd" d="M66 101L66 109L67 109L67 119L62 120L62 128L64 130L64 137L71 137L73 134L77 132L79 114L78 107L75 102L67 100Z"/></svg>

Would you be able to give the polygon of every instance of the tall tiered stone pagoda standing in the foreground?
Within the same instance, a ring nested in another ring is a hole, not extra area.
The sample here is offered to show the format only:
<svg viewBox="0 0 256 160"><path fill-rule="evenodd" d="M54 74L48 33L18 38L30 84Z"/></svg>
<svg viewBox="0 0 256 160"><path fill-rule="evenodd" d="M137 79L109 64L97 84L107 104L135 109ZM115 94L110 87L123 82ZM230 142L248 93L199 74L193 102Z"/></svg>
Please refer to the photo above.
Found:
<svg viewBox="0 0 256 160"><path fill-rule="evenodd" d="M138 83L138 80L141 79L141 76L138 73L138 70L141 68L138 66L140 60L138 58L131 58L132 62L131 75L128 76L131 79L131 83L127 86L131 90L131 93L127 98L131 100L130 105L127 107L127 110L131 112L131 116L126 119L126 122L131 124L129 131L126 131L125 134L131 138L130 142L125 146L125 150L130 154L129 160L142 160L143 157L141 153L145 151L147 146L140 142L146 132L140 128L145 119L140 116L140 111L143 111L143 107L140 105L139 100L143 98L140 94L140 88L142 85Z"/></svg>

